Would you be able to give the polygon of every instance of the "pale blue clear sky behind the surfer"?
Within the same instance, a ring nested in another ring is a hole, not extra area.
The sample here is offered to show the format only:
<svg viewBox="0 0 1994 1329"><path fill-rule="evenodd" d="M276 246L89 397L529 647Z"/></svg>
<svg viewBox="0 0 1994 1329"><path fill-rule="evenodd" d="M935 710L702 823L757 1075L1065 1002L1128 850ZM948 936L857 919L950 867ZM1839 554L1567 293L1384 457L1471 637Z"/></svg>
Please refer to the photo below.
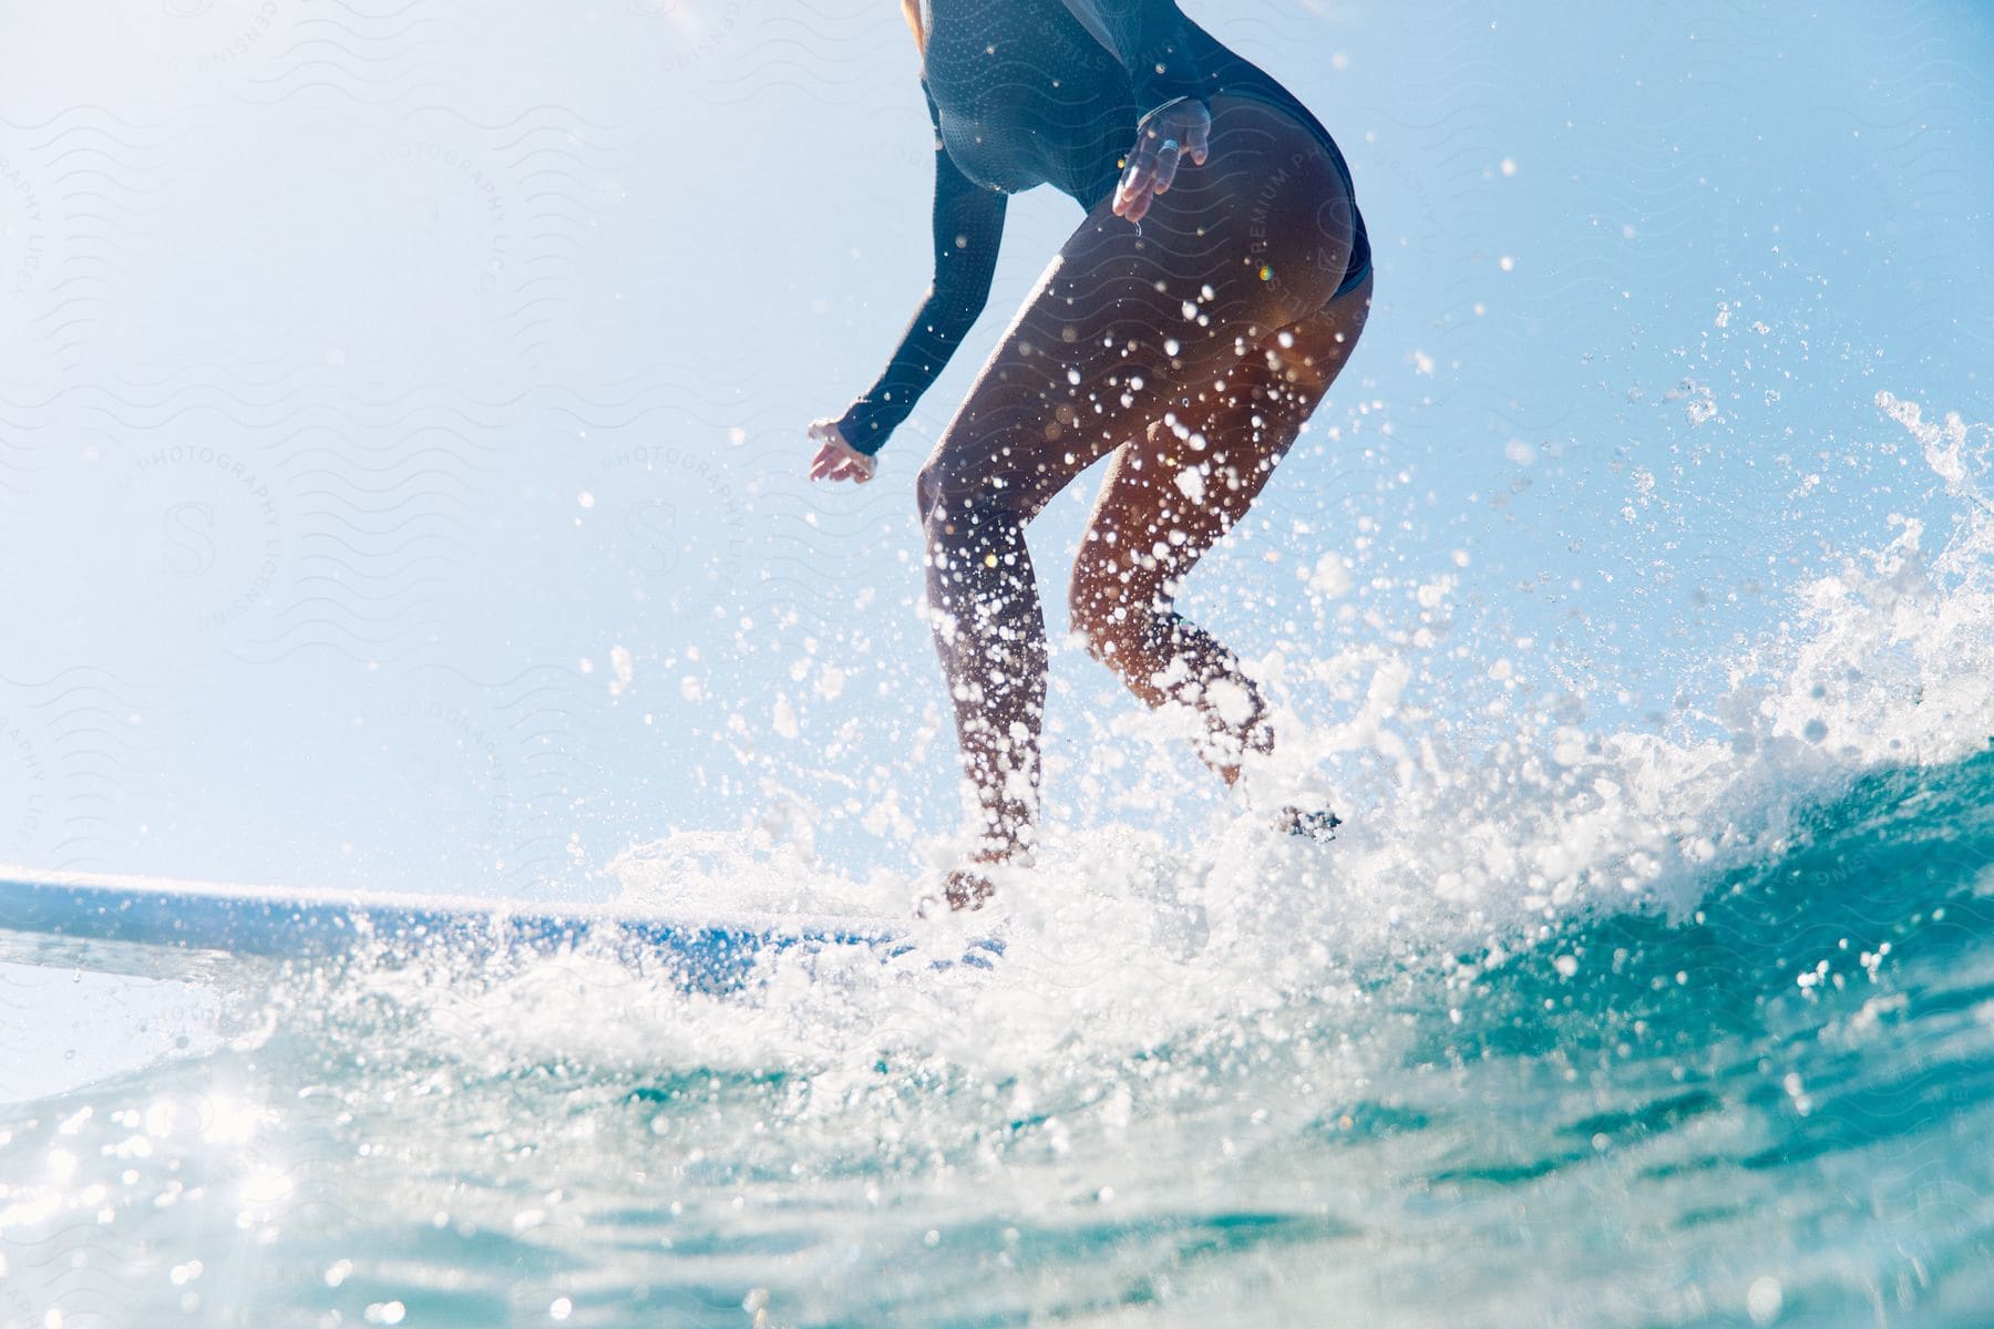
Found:
<svg viewBox="0 0 1994 1329"><path fill-rule="evenodd" d="M911 478L1077 213L1013 207L879 482L812 488L929 130L891 0L768 10L0 2L0 861L566 895L674 831L951 829ZM1338 133L1378 261L1190 588L1246 656L1400 660L1464 749L1497 693L1667 723L1783 588L1946 528L1876 395L1994 414L1984 10L1186 12ZM1131 711L1059 654L1061 815L1170 817L1184 763L1061 783Z"/></svg>

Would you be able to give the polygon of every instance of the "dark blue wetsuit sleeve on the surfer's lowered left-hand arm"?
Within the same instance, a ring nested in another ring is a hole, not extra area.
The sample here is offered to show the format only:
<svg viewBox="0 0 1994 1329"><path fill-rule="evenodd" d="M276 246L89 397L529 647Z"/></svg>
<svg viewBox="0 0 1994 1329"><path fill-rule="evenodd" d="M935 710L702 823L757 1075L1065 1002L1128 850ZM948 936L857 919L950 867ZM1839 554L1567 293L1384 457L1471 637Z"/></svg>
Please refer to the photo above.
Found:
<svg viewBox="0 0 1994 1329"><path fill-rule="evenodd" d="M927 84L921 84L927 92ZM955 347L989 303L1007 197L971 181L941 145L941 112L927 98L935 126L935 281L913 315L879 381L851 402L837 430L853 448L877 452L913 412Z"/></svg>

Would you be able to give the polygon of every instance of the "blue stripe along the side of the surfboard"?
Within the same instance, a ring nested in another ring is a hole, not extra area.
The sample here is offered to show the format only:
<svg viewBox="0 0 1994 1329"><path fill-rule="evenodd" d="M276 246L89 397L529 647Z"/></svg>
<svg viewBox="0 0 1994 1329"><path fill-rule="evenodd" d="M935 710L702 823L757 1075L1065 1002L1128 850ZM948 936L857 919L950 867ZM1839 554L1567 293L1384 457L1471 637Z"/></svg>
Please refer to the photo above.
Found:
<svg viewBox="0 0 1994 1329"><path fill-rule="evenodd" d="M740 986L766 952L865 946L885 960L913 950L883 921L510 911L489 901L325 899L82 875L0 877L0 929L68 942L305 960L431 946L467 956L550 954L586 944L662 960L706 990ZM971 942L963 962L989 964L1001 952L1001 942Z"/></svg>

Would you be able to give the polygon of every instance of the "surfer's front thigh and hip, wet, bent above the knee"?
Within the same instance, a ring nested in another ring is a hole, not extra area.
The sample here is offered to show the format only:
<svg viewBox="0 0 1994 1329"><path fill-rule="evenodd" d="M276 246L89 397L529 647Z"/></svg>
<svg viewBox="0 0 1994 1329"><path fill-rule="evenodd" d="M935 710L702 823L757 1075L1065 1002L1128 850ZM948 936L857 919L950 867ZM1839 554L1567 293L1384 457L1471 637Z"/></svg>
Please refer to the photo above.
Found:
<svg viewBox="0 0 1994 1329"><path fill-rule="evenodd" d="M1029 520L1075 474L1318 311L1350 249L1330 157L1258 102L1214 100L1212 153L1143 225L1103 201L1005 329L921 472L921 510Z"/></svg>

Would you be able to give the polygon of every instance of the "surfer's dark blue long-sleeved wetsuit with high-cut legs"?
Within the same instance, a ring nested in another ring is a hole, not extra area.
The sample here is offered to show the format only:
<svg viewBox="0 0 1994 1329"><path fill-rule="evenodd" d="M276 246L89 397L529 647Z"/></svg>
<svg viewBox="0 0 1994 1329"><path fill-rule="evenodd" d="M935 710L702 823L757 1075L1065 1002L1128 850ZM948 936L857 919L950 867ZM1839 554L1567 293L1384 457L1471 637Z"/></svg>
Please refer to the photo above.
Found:
<svg viewBox="0 0 1994 1329"><path fill-rule="evenodd" d="M877 452L989 301L1005 199L1043 183L1093 209L1121 177L1137 120L1176 98L1268 102L1350 167L1330 132L1174 0L923 0L921 90L935 126L935 283L879 381L839 428ZM1099 24L1099 32L1095 32ZM1186 169L1194 169L1186 161ZM1364 217L1338 295L1370 273Z"/></svg>

